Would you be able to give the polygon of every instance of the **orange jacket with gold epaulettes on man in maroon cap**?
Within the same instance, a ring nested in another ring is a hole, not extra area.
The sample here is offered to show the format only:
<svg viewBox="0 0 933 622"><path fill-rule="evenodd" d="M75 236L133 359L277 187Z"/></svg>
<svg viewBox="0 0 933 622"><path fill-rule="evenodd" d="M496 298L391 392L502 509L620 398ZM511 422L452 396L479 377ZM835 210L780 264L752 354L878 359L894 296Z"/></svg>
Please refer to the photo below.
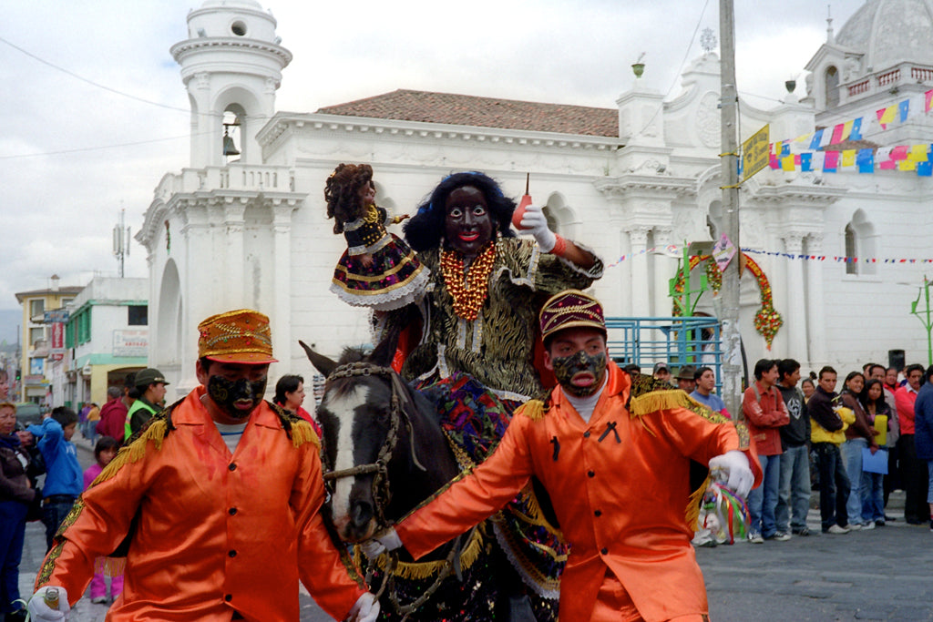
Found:
<svg viewBox="0 0 933 622"><path fill-rule="evenodd" d="M758 483L761 470L747 431L683 408L699 405L679 390L644 394L630 404L628 374L613 363L608 373L589 423L560 387L547 410L540 402L520 408L485 463L397 525L409 552L421 557L465 532L535 475L570 545L562 620L590 619L607 572L649 622L705 614L703 574L690 546L703 489L691 495L689 462L706 464L742 449Z"/></svg>

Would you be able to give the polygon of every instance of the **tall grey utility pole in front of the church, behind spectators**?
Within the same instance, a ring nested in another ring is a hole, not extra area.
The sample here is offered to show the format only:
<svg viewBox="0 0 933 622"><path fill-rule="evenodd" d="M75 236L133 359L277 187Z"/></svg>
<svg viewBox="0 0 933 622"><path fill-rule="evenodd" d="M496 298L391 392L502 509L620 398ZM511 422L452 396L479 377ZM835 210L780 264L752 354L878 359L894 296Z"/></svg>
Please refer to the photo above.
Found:
<svg viewBox="0 0 933 622"><path fill-rule="evenodd" d="M733 0L719 0L720 92L722 121L722 211L726 235L736 248L722 273L722 399L738 420L742 416L742 342L739 335L739 278L742 246L739 243L738 90L735 86L735 14Z"/></svg>

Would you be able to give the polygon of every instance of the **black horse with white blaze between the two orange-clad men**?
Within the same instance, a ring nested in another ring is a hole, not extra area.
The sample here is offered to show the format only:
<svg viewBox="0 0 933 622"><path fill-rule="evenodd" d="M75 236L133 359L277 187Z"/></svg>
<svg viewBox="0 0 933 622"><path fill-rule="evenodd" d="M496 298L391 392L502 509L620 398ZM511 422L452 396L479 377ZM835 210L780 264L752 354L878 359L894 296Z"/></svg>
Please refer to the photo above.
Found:
<svg viewBox="0 0 933 622"><path fill-rule="evenodd" d="M327 378L317 408L330 491L325 514L347 543L394 524L461 471L435 404L388 366L395 342L385 339L369 355L348 349L339 362L300 342ZM370 587L384 590L381 619L556 619L554 601L522 596L489 522L417 563L404 549L380 558Z"/></svg>

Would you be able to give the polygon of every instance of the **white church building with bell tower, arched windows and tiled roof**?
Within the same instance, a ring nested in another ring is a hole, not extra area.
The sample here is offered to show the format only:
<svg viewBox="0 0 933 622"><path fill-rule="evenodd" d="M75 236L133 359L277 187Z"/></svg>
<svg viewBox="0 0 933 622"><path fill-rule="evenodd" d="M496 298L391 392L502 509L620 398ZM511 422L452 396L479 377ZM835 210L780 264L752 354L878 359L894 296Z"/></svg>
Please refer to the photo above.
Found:
<svg viewBox="0 0 933 622"><path fill-rule="evenodd" d="M195 381L196 326L219 311L270 316L272 377L310 372L298 339L330 354L369 342L368 311L328 291L345 242L326 219L323 188L340 162L371 164L377 200L395 214L411 213L451 172L488 173L516 198L530 173L553 227L606 262L593 292L611 316L670 316L679 251L668 247L722 233L712 52L689 65L669 101L636 79L606 108L397 90L282 112L275 91L291 53L275 26L253 0L208 0L171 50L191 104L190 166L162 178L136 239L150 270L149 362L180 393ZM743 140L770 124L772 141L790 140L799 162L811 142L801 137L864 118L860 135L828 146L880 156L933 143L916 106L884 131L868 121L933 89L931 0L867 0L838 35L830 22L806 69L803 99L788 93L771 110L740 102ZM844 374L900 349L926 364L926 330L910 310L922 260L933 257L933 178L877 164L870 174L766 168L743 184L740 244L783 318L768 350L754 325L759 281L746 271L740 324L751 363L793 357L804 372L829 364ZM711 292L698 311L716 315Z"/></svg>

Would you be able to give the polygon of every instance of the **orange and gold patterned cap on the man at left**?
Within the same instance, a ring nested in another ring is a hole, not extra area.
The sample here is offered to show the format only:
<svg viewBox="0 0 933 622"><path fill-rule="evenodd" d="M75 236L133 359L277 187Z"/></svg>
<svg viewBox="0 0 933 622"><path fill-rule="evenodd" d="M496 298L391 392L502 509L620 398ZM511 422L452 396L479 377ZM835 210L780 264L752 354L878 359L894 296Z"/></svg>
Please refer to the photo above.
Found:
<svg viewBox="0 0 933 622"><path fill-rule="evenodd" d="M260 365L272 358L269 318L259 311L239 309L212 315L198 325L198 357L218 363Z"/></svg>

